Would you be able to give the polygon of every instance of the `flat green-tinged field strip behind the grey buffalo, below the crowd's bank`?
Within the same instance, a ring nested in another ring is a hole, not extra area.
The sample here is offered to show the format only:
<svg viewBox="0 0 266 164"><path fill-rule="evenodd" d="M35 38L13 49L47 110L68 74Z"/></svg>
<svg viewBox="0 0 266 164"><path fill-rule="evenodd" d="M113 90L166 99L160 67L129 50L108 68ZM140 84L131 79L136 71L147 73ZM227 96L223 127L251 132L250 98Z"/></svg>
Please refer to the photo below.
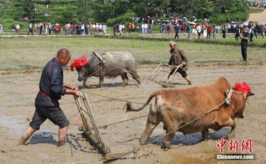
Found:
<svg viewBox="0 0 266 164"><path fill-rule="evenodd" d="M72 59L87 57L92 51L121 51L133 54L138 64L168 62L169 41L120 40L94 37L0 38L0 70L43 68L62 48L72 52ZM240 46L178 42L190 62L238 62ZM266 48L248 47L249 61L266 61Z"/></svg>

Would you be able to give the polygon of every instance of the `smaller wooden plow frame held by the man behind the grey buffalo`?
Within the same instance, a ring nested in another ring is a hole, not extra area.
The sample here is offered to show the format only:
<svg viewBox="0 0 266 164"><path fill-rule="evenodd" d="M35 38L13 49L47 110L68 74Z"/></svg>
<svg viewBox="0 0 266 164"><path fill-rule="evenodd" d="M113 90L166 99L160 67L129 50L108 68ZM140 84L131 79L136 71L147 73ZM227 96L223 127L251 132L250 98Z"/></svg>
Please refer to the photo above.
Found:
<svg viewBox="0 0 266 164"><path fill-rule="evenodd" d="M158 65L158 67L153 71L153 73L148 77L148 79L150 79L150 80L152 80L152 81L156 81L156 82L161 83L161 85L162 85L164 88L167 88L167 87L169 87L169 88L174 88L175 85L173 85L173 84L171 83L171 78L177 73L177 70L178 70L178 68L179 68L179 65L178 65L178 66L172 66L172 65L167 66L167 67L171 67L171 70L170 70L170 71L162 70L162 69L163 69L163 66L166 66L166 65L163 65L162 63L160 63L160 64ZM158 69L158 68L160 68L160 69ZM176 70L174 71L174 74L173 74L169 79L167 79L168 75L169 75L169 74L171 73L171 71L172 71L173 69L175 69L175 68L176 68ZM157 81L157 80L155 79L155 77L156 77L160 72L167 72L168 74L163 78L163 80L159 80L159 81ZM154 79L155 79L155 80L154 80ZM166 79L167 79L167 80L166 80Z"/></svg>

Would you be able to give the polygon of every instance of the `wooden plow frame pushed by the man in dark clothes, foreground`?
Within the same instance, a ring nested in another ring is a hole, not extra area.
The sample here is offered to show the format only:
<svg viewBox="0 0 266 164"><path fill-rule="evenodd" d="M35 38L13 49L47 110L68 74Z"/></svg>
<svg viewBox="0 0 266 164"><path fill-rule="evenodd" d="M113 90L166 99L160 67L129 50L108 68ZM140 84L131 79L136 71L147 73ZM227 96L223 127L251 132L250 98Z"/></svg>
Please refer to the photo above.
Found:
<svg viewBox="0 0 266 164"><path fill-rule="evenodd" d="M90 106L86 93L80 93L80 98L74 96L74 100L83 122L83 126L79 127L78 130L84 132L83 136L87 140L89 140L90 144L97 146L103 152L105 160L118 159L134 152L134 150L131 150L123 153L111 153L110 148L106 144L104 144L101 133L99 131L99 129L101 128L107 128L107 125L100 127L97 126L92 107ZM82 106L81 100L83 101L85 108ZM88 117L92 127L89 126Z"/></svg>

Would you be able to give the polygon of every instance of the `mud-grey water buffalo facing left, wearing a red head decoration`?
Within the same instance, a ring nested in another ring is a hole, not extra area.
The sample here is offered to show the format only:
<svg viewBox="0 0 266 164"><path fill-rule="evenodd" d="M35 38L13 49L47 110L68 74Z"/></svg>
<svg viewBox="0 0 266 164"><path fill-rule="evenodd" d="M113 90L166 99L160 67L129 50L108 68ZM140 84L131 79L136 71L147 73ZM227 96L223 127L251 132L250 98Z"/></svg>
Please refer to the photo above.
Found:
<svg viewBox="0 0 266 164"><path fill-rule="evenodd" d="M101 62L99 58L102 58L102 61L104 60L106 62ZM86 84L88 76L100 77L100 87L103 87L104 76L113 78L120 75L123 80L122 86L125 86L129 80L127 71L133 76L133 79L135 79L138 84L141 84L139 76L136 75L135 59L133 55L127 51L93 52L93 54L89 56L88 61L89 63L85 66L76 68L78 72L78 81L84 80L83 85L88 88L90 87L89 84Z"/></svg>

